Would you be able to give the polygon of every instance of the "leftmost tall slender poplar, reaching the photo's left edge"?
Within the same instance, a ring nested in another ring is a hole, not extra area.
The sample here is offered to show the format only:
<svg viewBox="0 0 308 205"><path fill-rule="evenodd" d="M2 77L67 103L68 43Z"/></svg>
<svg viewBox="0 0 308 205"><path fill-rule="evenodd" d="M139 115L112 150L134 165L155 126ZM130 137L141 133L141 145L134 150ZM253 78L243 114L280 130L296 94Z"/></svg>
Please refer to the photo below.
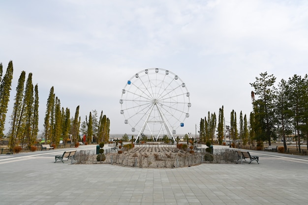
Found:
<svg viewBox="0 0 308 205"><path fill-rule="evenodd" d="M2 70L2 64L1 64ZM2 72L1 72L2 73ZM10 90L13 78L13 62L9 61L6 73L0 85L0 138L3 138L4 124L7 113L7 106L10 98Z"/></svg>

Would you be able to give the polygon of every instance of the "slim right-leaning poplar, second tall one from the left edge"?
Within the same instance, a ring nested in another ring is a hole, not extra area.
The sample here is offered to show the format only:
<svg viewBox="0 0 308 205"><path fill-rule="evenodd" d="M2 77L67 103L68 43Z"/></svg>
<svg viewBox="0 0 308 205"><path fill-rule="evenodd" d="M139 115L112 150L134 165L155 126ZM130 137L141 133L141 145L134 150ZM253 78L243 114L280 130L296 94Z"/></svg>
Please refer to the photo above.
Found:
<svg viewBox="0 0 308 205"><path fill-rule="evenodd" d="M16 145L16 140L18 136L19 118L21 116L21 110L22 110L25 80L26 80L26 72L22 71L19 76L17 87L16 87L16 95L14 99L13 112L12 112L11 121L10 121L10 124L11 124L10 131L9 131L10 150L12 150L13 147Z"/></svg>

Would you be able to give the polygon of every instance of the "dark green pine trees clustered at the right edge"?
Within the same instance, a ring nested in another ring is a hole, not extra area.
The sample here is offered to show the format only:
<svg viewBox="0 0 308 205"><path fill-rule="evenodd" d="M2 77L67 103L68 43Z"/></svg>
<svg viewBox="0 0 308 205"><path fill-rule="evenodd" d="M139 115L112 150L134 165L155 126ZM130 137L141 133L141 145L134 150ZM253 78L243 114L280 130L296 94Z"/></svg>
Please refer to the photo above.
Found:
<svg viewBox="0 0 308 205"><path fill-rule="evenodd" d="M283 139L286 150L286 135L294 134L296 141L308 136L308 76L299 75L282 79L275 87L276 77L267 72L256 77L250 85L253 112L250 114L251 136L258 141ZM298 144L299 152L301 146Z"/></svg>

